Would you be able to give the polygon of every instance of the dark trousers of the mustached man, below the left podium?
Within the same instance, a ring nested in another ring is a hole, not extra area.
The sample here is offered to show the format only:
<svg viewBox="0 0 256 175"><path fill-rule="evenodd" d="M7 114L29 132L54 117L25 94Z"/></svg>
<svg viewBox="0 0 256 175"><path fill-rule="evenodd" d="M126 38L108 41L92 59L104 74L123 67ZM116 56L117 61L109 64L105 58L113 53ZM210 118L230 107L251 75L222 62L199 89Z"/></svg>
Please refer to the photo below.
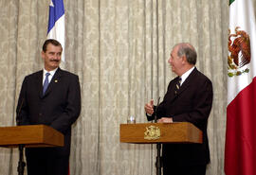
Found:
<svg viewBox="0 0 256 175"><path fill-rule="evenodd" d="M60 155L58 148L26 149L26 159L27 175L68 174L69 155Z"/></svg>

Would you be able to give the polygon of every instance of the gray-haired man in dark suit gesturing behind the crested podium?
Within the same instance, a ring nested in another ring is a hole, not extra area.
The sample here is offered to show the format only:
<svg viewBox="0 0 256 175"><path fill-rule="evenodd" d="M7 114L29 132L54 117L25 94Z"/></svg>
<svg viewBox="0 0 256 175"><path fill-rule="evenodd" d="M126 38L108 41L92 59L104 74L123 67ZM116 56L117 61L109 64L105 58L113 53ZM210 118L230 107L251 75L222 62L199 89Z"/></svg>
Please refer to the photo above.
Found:
<svg viewBox="0 0 256 175"><path fill-rule="evenodd" d="M196 52L191 44L174 45L168 62L178 77L169 83L157 109L153 99L145 105L148 120L153 120L156 114L159 123L191 122L203 131L203 143L163 144L163 172L164 175L205 175L210 163L207 125L212 84L194 66Z"/></svg>

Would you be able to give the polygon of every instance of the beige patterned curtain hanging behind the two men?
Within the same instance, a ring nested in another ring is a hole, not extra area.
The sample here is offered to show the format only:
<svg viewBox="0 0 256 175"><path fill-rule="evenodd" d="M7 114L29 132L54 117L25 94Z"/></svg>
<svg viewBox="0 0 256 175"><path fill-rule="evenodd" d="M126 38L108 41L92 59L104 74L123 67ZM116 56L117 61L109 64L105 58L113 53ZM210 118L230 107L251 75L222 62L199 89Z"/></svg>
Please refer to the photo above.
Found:
<svg viewBox="0 0 256 175"><path fill-rule="evenodd" d="M256 0L253 0L255 3ZM15 125L27 74L42 69L49 0L0 1L0 127ZM73 126L71 175L153 175L155 145L119 143L129 115L163 98L175 75L174 44L192 43L197 68L213 83L208 175L224 174L229 2L223 0L64 0L65 58L78 74L82 114ZM0 149L0 174L17 174L17 149Z"/></svg>

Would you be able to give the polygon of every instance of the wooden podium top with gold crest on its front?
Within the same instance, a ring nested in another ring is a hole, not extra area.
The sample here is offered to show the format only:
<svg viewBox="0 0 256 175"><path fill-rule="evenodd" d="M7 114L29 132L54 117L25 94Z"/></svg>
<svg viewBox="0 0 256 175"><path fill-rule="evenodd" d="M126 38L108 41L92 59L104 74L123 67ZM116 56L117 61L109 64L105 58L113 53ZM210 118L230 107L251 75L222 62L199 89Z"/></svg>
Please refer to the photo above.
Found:
<svg viewBox="0 0 256 175"><path fill-rule="evenodd" d="M189 122L120 124L119 141L124 143L202 143L203 134Z"/></svg>

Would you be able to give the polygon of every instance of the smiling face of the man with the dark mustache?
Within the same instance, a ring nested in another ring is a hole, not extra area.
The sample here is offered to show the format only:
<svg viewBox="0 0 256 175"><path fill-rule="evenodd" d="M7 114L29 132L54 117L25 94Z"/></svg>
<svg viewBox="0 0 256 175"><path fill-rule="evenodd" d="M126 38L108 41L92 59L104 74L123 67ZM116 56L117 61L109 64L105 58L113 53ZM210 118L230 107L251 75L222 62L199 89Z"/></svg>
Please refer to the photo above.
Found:
<svg viewBox="0 0 256 175"><path fill-rule="evenodd" d="M47 44L46 52L42 51L41 55L45 61L46 71L51 71L59 67L62 59L63 48L61 45Z"/></svg>

